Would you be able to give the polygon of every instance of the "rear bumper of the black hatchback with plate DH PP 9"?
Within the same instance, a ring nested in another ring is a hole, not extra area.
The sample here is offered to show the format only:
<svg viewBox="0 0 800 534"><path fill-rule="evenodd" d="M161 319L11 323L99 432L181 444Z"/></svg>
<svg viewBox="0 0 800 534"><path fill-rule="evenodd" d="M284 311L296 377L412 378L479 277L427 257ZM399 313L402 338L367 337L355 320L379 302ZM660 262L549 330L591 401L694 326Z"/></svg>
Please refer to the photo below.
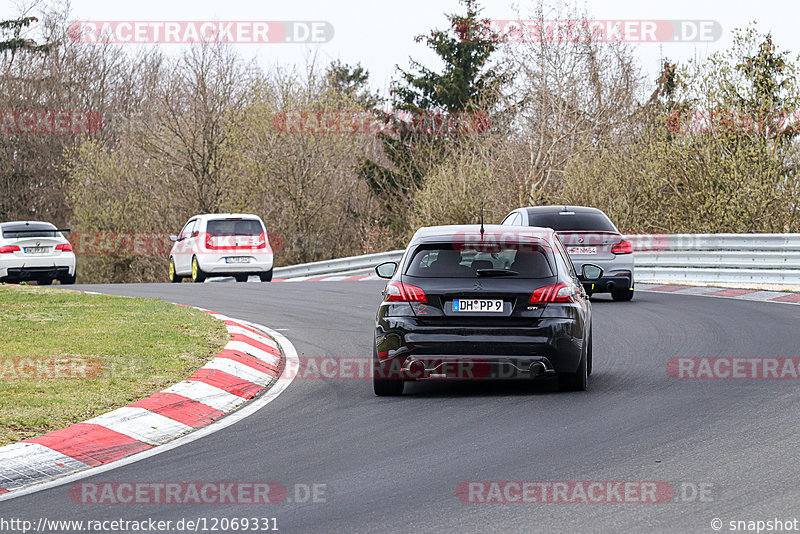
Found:
<svg viewBox="0 0 800 534"><path fill-rule="evenodd" d="M453 327L386 317L375 334L375 376L511 379L573 373L584 337L582 324L570 318L540 319L530 327Z"/></svg>

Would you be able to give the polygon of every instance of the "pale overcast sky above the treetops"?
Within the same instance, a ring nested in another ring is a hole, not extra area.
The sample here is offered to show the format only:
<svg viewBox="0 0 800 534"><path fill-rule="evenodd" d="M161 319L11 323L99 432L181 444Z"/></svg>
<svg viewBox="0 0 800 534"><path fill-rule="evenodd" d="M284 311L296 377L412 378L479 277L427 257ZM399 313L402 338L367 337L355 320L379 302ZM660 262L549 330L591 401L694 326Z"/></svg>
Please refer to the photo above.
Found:
<svg viewBox="0 0 800 534"><path fill-rule="evenodd" d="M19 0L0 0L3 15L13 15ZM533 3L486 0L483 16L492 19L516 18L517 7L530 15ZM794 53L800 52L797 20L800 2L795 0L589 0L577 2L596 19L715 20L722 28L719 40L711 43L642 43L636 45L642 65L654 76L662 57L686 60L702 56L730 44L731 30L756 20L759 28L773 33L775 42ZM385 88L395 73L395 65L408 66L409 56L435 66L435 56L414 36L434 27L444 27L445 13L461 12L458 0L72 0L77 20L314 20L328 21L335 35L325 44L245 44L241 54L256 57L262 64L305 64L309 55L327 63L341 59L361 62L371 74L375 88ZM154 46L154 45L130 45ZM180 50L181 45L160 45Z"/></svg>

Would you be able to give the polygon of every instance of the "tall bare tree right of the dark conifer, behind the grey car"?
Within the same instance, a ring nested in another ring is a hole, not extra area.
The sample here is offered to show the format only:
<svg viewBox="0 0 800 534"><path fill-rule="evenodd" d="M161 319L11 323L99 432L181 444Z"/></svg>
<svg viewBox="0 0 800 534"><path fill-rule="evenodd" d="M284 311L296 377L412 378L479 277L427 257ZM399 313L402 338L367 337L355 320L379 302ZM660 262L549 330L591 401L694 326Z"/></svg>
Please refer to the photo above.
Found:
<svg viewBox="0 0 800 534"><path fill-rule="evenodd" d="M547 31L555 20L570 21L571 35L580 37ZM585 12L539 1L530 21L541 38L523 33L503 49L515 73L504 124L528 160L519 204L552 201L570 158L625 135L643 88L630 48L587 31Z"/></svg>

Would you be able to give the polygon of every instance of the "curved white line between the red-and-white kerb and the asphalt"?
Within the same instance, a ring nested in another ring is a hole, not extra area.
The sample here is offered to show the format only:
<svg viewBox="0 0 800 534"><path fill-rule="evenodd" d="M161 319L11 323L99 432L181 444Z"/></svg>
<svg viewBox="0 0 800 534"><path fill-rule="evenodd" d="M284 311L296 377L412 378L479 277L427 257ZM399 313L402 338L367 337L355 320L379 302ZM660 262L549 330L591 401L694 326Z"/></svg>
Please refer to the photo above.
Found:
<svg viewBox="0 0 800 534"><path fill-rule="evenodd" d="M237 319L232 319L232 320L235 320L237 323L242 322ZM272 387L264 394L256 397L249 404L243 406L240 410L237 410L232 414L223 417L222 419L214 421L208 426L205 426L194 432L190 432L185 436L181 436L177 439L174 439L169 443L165 443L164 445L160 445L152 449L147 449L146 451L133 454L131 456L122 458L121 460L117 460L115 462L111 462L105 465L99 465L97 467L90 467L89 469L85 469L83 471L79 471L77 473L73 473L72 475L67 475L58 478L56 480L51 480L50 482L44 482L42 484L36 484L17 491L0 494L0 501L16 499L17 497L22 497L23 495L30 495L31 493L37 493L39 491L43 491L46 489L63 486L64 484L75 482L76 480L81 480L90 476L98 475L100 473L105 473L107 471L111 471L112 469L117 469L118 467L136 463L138 461L145 460L157 454L171 451L172 449L176 449L181 445L186 445L187 443L197 441L198 439L202 439L210 434L219 432L224 428L236 424L242 419L245 419L253 415L258 410L260 410L270 402L277 399L278 395L286 391L286 388L288 388L289 385L292 383L294 377L297 376L297 371L300 367L300 359L297 357L297 350L294 348L294 345L292 345L291 341L289 341L280 332L277 332L265 326L260 326L254 323L245 323L245 324L247 324L248 326L252 326L257 330L261 330L262 332L265 332L266 334L275 338L275 340L280 344L281 348L283 349L283 353L286 357L286 370L281 375L281 377L275 381Z"/></svg>

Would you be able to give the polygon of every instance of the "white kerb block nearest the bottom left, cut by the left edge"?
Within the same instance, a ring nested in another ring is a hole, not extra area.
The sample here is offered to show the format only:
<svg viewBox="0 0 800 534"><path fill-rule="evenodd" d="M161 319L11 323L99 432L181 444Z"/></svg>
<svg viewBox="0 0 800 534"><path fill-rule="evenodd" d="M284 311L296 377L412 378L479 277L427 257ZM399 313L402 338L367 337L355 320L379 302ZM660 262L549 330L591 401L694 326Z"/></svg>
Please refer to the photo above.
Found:
<svg viewBox="0 0 800 534"><path fill-rule="evenodd" d="M39 443L12 443L0 448L0 487L13 490L85 467L85 463Z"/></svg>

